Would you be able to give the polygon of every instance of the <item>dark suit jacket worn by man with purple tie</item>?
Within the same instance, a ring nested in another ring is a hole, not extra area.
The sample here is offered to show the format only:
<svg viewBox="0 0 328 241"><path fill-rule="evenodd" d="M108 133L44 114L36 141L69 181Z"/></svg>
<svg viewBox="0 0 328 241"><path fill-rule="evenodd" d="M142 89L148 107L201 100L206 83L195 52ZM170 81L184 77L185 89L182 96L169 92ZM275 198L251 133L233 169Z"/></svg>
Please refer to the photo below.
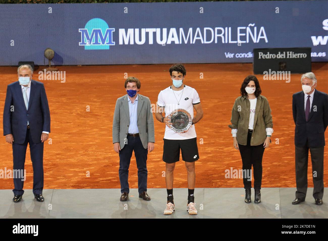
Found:
<svg viewBox="0 0 328 241"><path fill-rule="evenodd" d="M295 146L304 147L306 139L310 148L325 146L325 131L328 125L328 95L326 93L317 89L314 91L307 122L305 121L304 92L299 91L293 94L293 118L296 125Z"/></svg>

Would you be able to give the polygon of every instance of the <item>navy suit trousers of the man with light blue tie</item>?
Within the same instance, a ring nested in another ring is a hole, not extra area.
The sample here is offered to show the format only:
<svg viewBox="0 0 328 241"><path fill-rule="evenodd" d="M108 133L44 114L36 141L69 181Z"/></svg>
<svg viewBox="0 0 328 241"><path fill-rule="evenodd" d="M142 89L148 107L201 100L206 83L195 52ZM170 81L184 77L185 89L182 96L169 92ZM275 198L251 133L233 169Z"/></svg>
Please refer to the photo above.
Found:
<svg viewBox="0 0 328 241"><path fill-rule="evenodd" d="M40 136L41 138L41 136ZM42 194L43 190L43 144L34 143L31 138L30 129L26 131L24 144L12 143L13 169L24 170L27 144L30 144L31 161L33 166L33 194ZM24 181L22 178L13 178L15 188L14 195L23 195Z"/></svg>

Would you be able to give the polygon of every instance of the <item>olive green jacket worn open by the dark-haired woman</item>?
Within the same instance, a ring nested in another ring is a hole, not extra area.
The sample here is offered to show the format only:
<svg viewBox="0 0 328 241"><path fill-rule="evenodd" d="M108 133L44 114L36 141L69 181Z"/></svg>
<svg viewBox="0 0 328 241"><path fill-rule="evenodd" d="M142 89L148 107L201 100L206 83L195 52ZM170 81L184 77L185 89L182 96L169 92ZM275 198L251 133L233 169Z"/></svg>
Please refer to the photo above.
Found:
<svg viewBox="0 0 328 241"><path fill-rule="evenodd" d="M232 108L231 123L228 125L231 129L238 129L237 142L240 145L247 145L248 124L251 104L247 96L239 96L235 100ZM263 95L259 95L256 101L253 133L251 146L260 145L265 141L266 128L272 128L272 115L269 102Z"/></svg>

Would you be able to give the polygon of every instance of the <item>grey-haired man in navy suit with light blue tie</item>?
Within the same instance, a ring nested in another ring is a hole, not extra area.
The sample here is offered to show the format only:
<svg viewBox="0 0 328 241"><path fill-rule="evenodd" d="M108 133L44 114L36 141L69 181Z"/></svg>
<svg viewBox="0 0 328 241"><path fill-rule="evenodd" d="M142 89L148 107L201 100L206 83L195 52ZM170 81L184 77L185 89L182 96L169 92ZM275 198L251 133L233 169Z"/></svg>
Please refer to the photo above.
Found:
<svg viewBox="0 0 328 241"><path fill-rule="evenodd" d="M31 65L18 67L18 81L7 87L3 112L3 134L12 144L13 171L24 170L27 144L33 166L34 198L43 202L43 145L50 132L50 111L43 83L32 80ZM13 177L14 202L24 193L22 177Z"/></svg>

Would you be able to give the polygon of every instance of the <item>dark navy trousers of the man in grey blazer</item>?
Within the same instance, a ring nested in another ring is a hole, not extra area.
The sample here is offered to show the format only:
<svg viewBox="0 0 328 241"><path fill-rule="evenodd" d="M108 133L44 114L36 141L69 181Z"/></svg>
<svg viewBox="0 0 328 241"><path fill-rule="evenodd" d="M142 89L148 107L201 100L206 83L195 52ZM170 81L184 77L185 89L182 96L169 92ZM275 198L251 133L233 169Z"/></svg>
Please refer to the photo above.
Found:
<svg viewBox="0 0 328 241"><path fill-rule="evenodd" d="M118 170L121 193L130 192L128 177L129 177L129 166L134 151L135 160L138 168L138 191L142 193L147 191L147 154L148 150L142 146L139 136L127 136L127 144L124 145L123 149L119 151L120 157L120 168Z"/></svg>

